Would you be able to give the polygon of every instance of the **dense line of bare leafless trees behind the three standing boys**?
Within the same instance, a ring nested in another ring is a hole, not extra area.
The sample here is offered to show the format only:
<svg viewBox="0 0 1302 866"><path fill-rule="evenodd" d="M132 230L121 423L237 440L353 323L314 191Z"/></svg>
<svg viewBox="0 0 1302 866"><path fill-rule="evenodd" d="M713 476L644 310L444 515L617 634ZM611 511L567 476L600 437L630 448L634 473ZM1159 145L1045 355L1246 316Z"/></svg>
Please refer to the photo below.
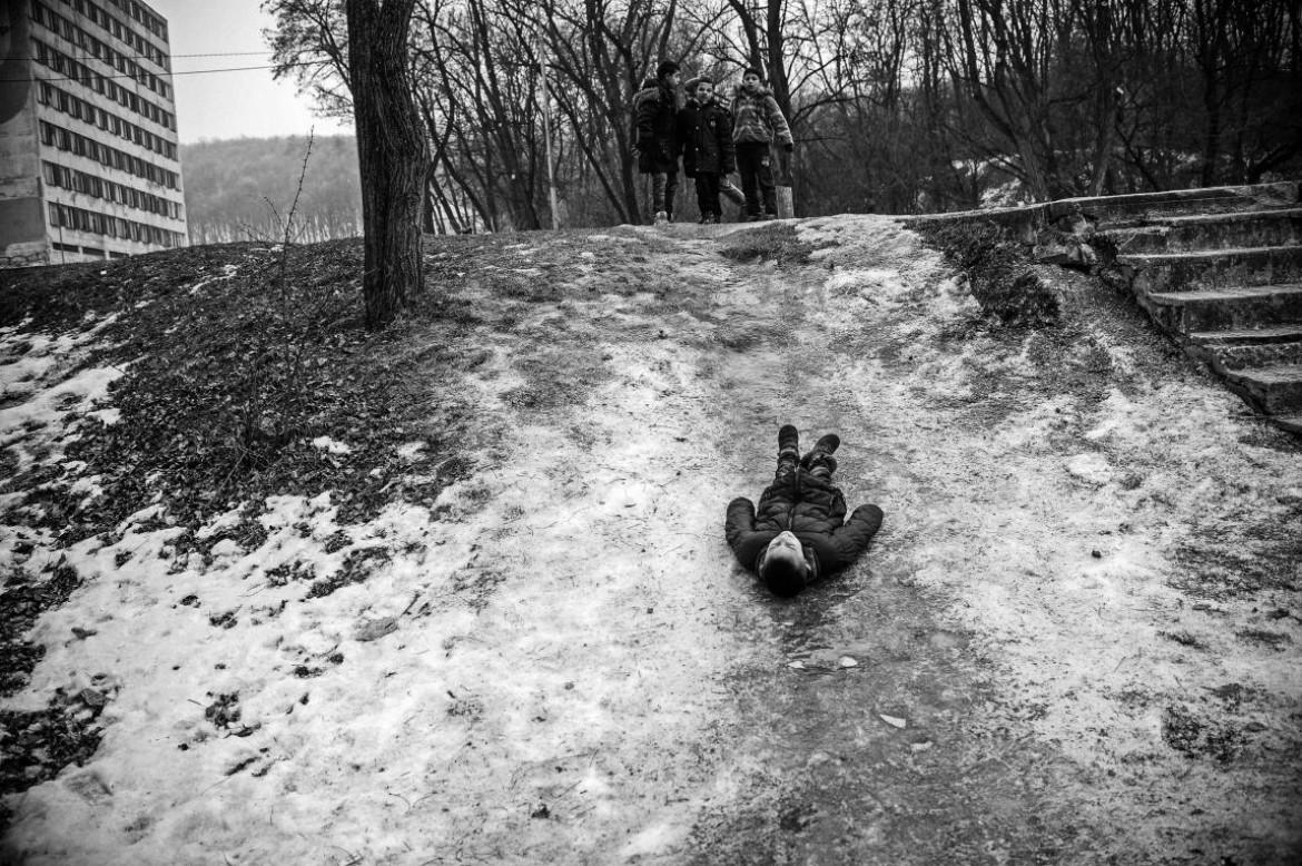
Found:
<svg viewBox="0 0 1302 866"><path fill-rule="evenodd" d="M344 0L263 5L283 74L350 115ZM1302 165L1297 0L417 0L409 55L431 232L551 224L544 72L561 224L641 221L630 105L663 59L767 72L805 215Z"/></svg>

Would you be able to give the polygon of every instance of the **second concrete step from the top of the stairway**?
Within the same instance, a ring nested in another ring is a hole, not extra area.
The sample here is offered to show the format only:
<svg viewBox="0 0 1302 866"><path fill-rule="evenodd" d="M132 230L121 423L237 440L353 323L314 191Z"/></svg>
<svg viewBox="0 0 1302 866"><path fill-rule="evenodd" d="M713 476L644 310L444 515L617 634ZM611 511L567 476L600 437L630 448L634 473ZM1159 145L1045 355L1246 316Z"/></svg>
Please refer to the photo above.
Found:
<svg viewBox="0 0 1302 866"><path fill-rule="evenodd" d="M1302 244L1302 208L1126 220L1100 232L1117 253L1180 253Z"/></svg>

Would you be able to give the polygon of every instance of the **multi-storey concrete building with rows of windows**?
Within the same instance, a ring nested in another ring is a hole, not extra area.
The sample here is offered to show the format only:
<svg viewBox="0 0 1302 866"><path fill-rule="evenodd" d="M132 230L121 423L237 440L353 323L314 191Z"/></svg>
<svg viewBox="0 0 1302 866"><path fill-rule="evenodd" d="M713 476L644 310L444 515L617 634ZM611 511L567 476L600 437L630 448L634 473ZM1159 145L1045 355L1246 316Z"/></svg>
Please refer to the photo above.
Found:
<svg viewBox="0 0 1302 866"><path fill-rule="evenodd" d="M167 21L0 0L0 267L185 246Z"/></svg>

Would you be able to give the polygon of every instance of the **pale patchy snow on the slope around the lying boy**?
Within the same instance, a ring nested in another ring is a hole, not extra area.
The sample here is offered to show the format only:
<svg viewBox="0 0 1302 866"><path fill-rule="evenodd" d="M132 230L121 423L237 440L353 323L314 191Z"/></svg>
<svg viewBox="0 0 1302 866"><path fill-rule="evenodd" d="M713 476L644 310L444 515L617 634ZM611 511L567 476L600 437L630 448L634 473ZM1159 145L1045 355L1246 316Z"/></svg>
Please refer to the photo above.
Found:
<svg viewBox="0 0 1302 866"><path fill-rule="evenodd" d="M1137 349L1105 310L1059 344L1009 336L979 327L939 255L891 220L798 233L824 249L790 279L700 240L566 238L578 276L555 302L517 298L509 324L471 335L491 349L456 395L500 436L426 505L348 522L326 490L253 503L250 524L236 503L197 533L223 537L210 556L180 555L159 508L62 550L49 530L0 527L8 570L81 577L36 621L46 655L4 708L55 699L103 731L83 766L7 797L5 850L27 863L690 861L699 817L776 772L747 751L756 720L729 684L767 671L790 689L781 677L812 667L772 636L786 608L737 568L720 527L733 495L759 492L788 419L838 427L848 497L887 512L849 580L917 587L988 663L1004 702L971 724L1026 725L1115 770L1061 796L1096 827L1130 822L1130 841L1151 818L1137 789L1240 814L1225 803L1249 770L1182 763L1172 707L1207 721L1207 695L1242 684L1275 697L1234 716L1242 747L1297 742L1302 576L1271 534L1302 503L1295 449L1259 441L1233 397ZM533 259L553 242L505 247L510 272L540 281ZM487 305L483 292L467 280L454 301ZM92 333L0 339L7 470L44 464L94 497L64 449L79 417L115 422L107 388L124 371L69 375ZM549 353L602 372L573 405L521 404ZM354 445L312 444L327 458ZM393 460L430 473L418 461L432 447L413 439ZM1234 589L1221 566L1245 551L1267 570ZM854 671L871 672L875 646ZM940 753L932 738L906 749ZM1197 788L1177 794L1180 772ZM1263 836L1282 832L1281 805L1263 810Z"/></svg>

